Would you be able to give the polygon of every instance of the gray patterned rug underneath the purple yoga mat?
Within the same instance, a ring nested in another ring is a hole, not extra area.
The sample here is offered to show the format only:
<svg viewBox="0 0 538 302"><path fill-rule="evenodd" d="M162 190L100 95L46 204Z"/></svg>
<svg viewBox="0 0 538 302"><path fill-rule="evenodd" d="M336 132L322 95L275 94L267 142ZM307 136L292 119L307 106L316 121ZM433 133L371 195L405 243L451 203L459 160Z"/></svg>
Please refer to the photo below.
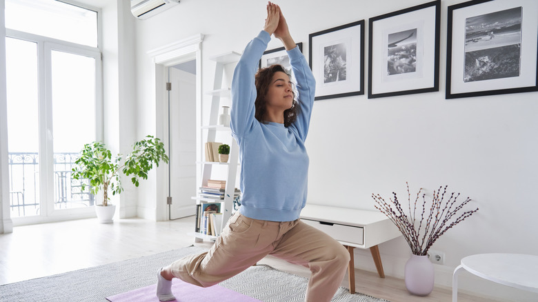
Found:
<svg viewBox="0 0 538 302"><path fill-rule="evenodd" d="M205 252L194 246L0 286L0 301L106 301L106 296L156 282L157 268L189 254ZM304 301L308 279L256 265L220 283L225 288L266 302ZM333 302L388 302L339 288Z"/></svg>

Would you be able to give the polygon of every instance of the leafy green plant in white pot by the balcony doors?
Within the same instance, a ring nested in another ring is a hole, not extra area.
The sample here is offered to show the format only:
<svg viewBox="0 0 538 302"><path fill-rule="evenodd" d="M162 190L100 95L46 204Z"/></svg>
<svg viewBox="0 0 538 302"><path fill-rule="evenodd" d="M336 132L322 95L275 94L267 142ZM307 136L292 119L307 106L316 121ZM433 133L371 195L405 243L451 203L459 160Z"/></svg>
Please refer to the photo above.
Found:
<svg viewBox="0 0 538 302"><path fill-rule="evenodd" d="M85 144L79 155L74 161L72 178L81 181L82 190L85 190L89 183L90 192L94 195L103 190L103 202L95 207L97 219L101 223L112 222L116 206L109 203L109 191L112 195L123 191L120 172L131 177L132 183L138 187L140 178L148 179L148 172L153 168L153 164L158 167L160 161L168 163L164 144L151 135L137 141L123 162L121 154L112 157L112 152L101 141ZM87 179L88 183L84 179Z"/></svg>

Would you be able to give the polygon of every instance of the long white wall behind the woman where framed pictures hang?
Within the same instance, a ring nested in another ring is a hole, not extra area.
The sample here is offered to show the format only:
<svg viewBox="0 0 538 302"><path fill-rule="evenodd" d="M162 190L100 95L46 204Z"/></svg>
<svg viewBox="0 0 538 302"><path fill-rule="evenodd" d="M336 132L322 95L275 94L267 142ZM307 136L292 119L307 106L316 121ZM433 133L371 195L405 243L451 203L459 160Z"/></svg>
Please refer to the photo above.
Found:
<svg viewBox="0 0 538 302"><path fill-rule="evenodd" d="M282 1L279 3L296 42L303 42L308 59L308 34L366 20L418 5L421 0L371 2ZM433 245L446 253L435 265L436 282L451 285L451 274L462 257L485 252L538 254L535 231L538 179L538 92L446 100L447 6L442 2L440 91L403 97L368 99L366 95L316 101L307 148L310 154L308 202L374 209L372 193L406 199L412 192L432 192L449 185L473 199L479 212L449 230ZM155 132L155 68L148 50L205 34L202 50L202 90L210 90L215 54L242 52L263 27L265 0L183 0L156 17L136 21L138 133ZM366 37L366 41L368 38ZM277 39L268 49L281 47ZM366 48L366 52L368 48ZM366 53L368 58L368 53ZM230 76L230 74L228 74ZM366 84L367 82L365 82ZM203 96L204 119L210 97ZM463 198L464 199L464 198ZM462 199L462 200L463 200ZM155 201L139 200L151 208ZM409 248L403 239L380 245L388 275L402 277ZM368 251L356 252L358 268L375 271ZM517 301L535 301L536 294L511 290L462 274L461 288Z"/></svg>

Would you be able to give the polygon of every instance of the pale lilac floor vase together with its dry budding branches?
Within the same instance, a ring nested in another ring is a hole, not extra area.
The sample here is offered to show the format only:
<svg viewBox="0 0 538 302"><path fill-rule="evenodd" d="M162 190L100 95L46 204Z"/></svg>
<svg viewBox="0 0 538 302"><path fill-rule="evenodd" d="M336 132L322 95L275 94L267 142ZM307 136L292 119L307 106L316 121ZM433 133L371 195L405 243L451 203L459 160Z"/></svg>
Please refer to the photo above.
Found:
<svg viewBox="0 0 538 302"><path fill-rule="evenodd" d="M448 188L447 185L444 188L439 187L437 192L433 191L431 204L426 201L426 194L421 194L422 188L417 193L415 201L412 202L409 185L407 185L408 205L402 205L395 192L392 192L394 200L389 199L390 203L379 194L372 194L372 198L377 203L375 208L397 226L411 248L412 256L406 263L404 280L407 290L417 296L426 296L433 290L434 268L428 259L428 250L432 244L448 229L478 211L476 208L457 215L457 212L471 199L467 197L465 201L458 203L459 193L454 192L447 194L448 199L446 199L446 188ZM422 202L419 201L420 197L422 197ZM409 214L406 214L403 208L406 208Z"/></svg>

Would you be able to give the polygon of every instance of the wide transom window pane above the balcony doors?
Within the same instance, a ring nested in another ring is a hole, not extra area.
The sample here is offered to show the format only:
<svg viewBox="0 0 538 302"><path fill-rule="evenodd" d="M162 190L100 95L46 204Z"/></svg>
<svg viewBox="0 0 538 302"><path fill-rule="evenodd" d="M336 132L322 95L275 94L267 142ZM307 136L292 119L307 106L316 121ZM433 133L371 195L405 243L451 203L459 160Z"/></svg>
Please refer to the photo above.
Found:
<svg viewBox="0 0 538 302"><path fill-rule="evenodd" d="M6 28L97 47L97 12L54 0L6 0Z"/></svg>

